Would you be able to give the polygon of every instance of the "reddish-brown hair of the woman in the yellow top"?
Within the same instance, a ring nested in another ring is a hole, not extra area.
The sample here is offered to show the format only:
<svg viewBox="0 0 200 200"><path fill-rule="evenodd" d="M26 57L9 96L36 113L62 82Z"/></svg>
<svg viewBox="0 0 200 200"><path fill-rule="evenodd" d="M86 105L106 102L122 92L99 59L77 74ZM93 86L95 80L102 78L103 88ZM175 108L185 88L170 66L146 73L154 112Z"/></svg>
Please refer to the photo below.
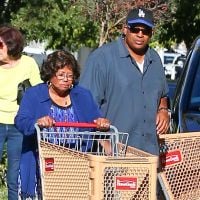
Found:
<svg viewBox="0 0 200 200"><path fill-rule="evenodd" d="M8 56L13 60L19 59L24 48L24 37L22 33L10 25L1 25L0 38L7 46Z"/></svg>

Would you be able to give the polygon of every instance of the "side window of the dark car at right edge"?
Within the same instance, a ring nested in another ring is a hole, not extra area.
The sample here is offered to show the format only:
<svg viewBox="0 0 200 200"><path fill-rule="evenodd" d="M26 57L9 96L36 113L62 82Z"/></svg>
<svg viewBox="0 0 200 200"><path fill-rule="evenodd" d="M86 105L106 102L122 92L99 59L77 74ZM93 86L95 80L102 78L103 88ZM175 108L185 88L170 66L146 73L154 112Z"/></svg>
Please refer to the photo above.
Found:
<svg viewBox="0 0 200 200"><path fill-rule="evenodd" d="M200 111L200 62L195 74L194 83L191 90L191 98L189 102L189 109L193 111Z"/></svg>

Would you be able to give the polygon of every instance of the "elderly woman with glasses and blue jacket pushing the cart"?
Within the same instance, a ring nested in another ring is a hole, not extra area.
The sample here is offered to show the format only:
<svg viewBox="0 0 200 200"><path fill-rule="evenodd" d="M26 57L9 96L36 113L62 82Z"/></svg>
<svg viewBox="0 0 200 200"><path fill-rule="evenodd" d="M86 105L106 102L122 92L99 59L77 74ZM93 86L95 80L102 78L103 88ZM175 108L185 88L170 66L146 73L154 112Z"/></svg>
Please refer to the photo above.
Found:
<svg viewBox="0 0 200 200"><path fill-rule="evenodd" d="M109 128L109 120L101 118L91 93L77 85L79 75L74 56L67 51L56 51L48 55L41 67L44 83L28 89L22 99L15 123L24 134L20 170L22 193L26 196L35 195L35 123L47 129L56 121L95 122L99 130Z"/></svg>

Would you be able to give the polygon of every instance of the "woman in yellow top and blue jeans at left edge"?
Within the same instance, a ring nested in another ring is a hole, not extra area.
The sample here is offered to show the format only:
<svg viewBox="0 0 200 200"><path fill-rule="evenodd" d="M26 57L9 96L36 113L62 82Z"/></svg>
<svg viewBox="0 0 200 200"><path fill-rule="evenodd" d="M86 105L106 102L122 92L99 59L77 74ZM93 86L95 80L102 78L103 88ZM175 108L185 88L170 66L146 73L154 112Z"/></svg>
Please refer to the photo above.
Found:
<svg viewBox="0 0 200 200"><path fill-rule="evenodd" d="M24 39L19 30L0 26L0 160L7 144L8 199L18 199L19 161L22 134L14 126L19 108L18 86L25 80L30 85L41 81L39 68L33 58L22 55Z"/></svg>

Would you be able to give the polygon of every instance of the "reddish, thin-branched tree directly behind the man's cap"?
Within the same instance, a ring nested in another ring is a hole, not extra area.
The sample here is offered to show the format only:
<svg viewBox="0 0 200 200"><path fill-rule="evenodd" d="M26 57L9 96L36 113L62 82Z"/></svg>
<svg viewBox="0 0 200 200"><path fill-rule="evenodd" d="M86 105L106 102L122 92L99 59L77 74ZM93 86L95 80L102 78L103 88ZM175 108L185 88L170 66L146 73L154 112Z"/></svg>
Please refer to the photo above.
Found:
<svg viewBox="0 0 200 200"><path fill-rule="evenodd" d="M156 22L167 16L167 1L160 0L84 0L82 5L83 15L89 16L99 27L99 46L121 34L125 16L131 8L149 8Z"/></svg>

